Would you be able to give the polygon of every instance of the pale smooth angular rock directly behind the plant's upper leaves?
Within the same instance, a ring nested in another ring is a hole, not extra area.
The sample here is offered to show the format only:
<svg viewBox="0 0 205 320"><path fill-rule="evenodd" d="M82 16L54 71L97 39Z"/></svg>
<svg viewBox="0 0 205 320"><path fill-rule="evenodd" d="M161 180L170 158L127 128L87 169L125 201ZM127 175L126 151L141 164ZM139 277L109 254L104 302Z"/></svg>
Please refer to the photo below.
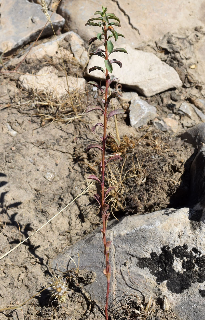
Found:
<svg viewBox="0 0 205 320"><path fill-rule="evenodd" d="M115 47L117 47L116 44L114 44ZM129 45L125 45L124 48L128 54L113 52L110 55L110 60L117 59L123 64L122 68L119 68L116 63L112 64L112 74L119 77L118 82L120 84L129 86L146 97L182 85L178 73L174 68L162 62L155 54L134 50ZM89 76L102 79L102 71L95 70L91 73L88 72L94 66L105 68L103 58L92 55L87 66L87 74Z"/></svg>

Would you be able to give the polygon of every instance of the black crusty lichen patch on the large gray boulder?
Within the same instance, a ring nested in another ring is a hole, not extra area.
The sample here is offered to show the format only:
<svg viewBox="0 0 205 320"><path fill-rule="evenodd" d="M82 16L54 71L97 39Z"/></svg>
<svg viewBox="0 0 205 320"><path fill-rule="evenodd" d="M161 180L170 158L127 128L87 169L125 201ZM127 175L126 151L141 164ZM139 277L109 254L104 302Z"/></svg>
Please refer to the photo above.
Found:
<svg viewBox="0 0 205 320"><path fill-rule="evenodd" d="M192 283L205 281L205 255L202 255L197 248L192 248L191 251L187 249L187 244L178 245L172 250L166 245L161 248L162 253L159 256L156 252L151 252L150 258L140 258L137 265L142 269L148 268L156 277L157 284L167 280L166 285L171 292L182 293ZM181 272L174 269L175 259L181 262Z"/></svg>

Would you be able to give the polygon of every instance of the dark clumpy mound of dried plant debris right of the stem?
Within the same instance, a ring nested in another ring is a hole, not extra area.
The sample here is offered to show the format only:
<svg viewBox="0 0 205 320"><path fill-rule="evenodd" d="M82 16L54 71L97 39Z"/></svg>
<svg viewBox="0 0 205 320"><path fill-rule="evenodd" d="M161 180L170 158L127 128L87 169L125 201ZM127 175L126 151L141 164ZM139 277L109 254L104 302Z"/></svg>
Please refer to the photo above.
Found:
<svg viewBox="0 0 205 320"><path fill-rule="evenodd" d="M143 139L135 141L127 152L121 155L123 161L111 163L107 173L110 186L116 189L110 192L112 213L147 213L183 205L189 187L190 162L193 148L171 136L148 132ZM112 147L112 146L111 146Z"/></svg>

